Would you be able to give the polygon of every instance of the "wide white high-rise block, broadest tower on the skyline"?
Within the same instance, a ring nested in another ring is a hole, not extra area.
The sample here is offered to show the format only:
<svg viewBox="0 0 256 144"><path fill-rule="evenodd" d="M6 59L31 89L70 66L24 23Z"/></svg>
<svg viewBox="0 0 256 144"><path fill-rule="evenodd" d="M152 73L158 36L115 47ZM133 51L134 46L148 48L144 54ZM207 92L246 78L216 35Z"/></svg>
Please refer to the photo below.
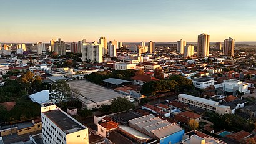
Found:
<svg viewBox="0 0 256 144"><path fill-rule="evenodd" d="M102 45L96 41L82 44L82 61L103 62Z"/></svg>

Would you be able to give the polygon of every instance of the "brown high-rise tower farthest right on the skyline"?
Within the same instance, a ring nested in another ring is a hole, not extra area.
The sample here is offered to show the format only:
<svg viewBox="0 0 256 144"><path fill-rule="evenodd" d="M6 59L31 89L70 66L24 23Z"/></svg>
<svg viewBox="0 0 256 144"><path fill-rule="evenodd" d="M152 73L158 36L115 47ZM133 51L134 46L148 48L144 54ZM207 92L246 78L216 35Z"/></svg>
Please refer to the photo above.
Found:
<svg viewBox="0 0 256 144"><path fill-rule="evenodd" d="M235 50L235 40L229 37L229 39L224 40L223 54L225 56L233 57Z"/></svg>

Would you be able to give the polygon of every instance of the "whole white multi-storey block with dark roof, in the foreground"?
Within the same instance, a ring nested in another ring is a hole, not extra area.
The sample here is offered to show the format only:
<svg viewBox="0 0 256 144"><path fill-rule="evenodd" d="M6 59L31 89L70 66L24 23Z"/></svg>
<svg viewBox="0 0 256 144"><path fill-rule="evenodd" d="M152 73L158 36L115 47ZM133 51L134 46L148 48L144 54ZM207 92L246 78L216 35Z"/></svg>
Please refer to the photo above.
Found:
<svg viewBox="0 0 256 144"><path fill-rule="evenodd" d="M42 105L43 143L87 143L88 128L51 103Z"/></svg>

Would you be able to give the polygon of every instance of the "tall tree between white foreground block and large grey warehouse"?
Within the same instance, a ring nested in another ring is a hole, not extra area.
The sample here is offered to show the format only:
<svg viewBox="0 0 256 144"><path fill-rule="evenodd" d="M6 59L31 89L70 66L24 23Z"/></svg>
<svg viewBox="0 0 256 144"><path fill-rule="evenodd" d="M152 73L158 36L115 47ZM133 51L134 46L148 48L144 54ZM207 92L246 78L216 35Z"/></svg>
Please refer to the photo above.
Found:
<svg viewBox="0 0 256 144"><path fill-rule="evenodd" d="M52 84L49 99L55 100L59 105L62 105L63 101L71 99L71 89L69 84L67 84L65 80L60 80L59 82Z"/></svg>

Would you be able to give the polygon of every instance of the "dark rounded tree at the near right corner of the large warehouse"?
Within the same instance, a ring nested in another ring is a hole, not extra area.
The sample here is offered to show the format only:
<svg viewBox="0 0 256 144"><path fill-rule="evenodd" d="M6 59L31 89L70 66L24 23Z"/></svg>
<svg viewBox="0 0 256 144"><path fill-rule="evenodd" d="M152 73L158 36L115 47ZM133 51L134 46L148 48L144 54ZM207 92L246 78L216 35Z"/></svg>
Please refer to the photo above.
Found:
<svg viewBox="0 0 256 144"><path fill-rule="evenodd" d="M135 106L126 98L117 97L111 101L111 112L122 112L129 109L134 109Z"/></svg>

